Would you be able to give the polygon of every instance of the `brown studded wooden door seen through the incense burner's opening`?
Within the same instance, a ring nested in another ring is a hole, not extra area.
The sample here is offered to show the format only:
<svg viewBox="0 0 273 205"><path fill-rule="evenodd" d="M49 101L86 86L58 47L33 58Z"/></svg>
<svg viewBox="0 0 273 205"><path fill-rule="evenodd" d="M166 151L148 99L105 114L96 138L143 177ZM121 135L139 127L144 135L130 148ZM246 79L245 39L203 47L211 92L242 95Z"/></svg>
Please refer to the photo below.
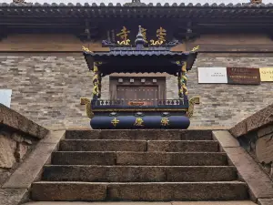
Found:
<svg viewBox="0 0 273 205"><path fill-rule="evenodd" d="M145 106L157 105L157 86L117 86L116 95L118 100L124 100L125 105L129 102L144 102Z"/></svg>

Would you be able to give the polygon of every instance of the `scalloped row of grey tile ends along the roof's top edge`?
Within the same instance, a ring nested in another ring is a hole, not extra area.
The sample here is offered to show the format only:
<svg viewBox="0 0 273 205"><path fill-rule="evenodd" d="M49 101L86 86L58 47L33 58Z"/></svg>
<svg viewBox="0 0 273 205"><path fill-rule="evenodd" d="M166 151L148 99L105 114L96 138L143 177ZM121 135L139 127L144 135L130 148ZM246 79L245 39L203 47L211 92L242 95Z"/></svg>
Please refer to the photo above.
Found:
<svg viewBox="0 0 273 205"><path fill-rule="evenodd" d="M53 3L53 4L47 4L47 3L44 3L44 4L40 4L40 3L18 3L18 4L15 4L15 3L10 3L10 4L7 4L7 3L0 3L0 6L45 6L45 7L49 7L49 6L52 6L52 7L96 7L96 6L108 6L108 7L112 7L112 6L115 6L115 7L119 7L119 6L143 6L143 7L161 7L161 6L164 6L164 7L168 7L168 6L172 6L172 7L218 7L218 8L222 8L222 7L225 7L225 8L228 8L228 7L273 7L273 4L272 3L268 3L268 4L250 4L250 3L246 3L246 4L232 4L232 3L229 3L229 4L200 4L200 3L197 3L197 4L192 4L192 3L189 3L189 4L184 4L184 3L181 3L181 4L177 4L177 3L174 3L172 5L166 3L166 4L160 4L160 3L157 3L156 5L150 3L150 4L145 4L145 3L126 3L126 4L120 4L120 3L117 3L116 5L112 4L112 3L109 3L108 5L104 4L104 3L100 3L100 4L96 4L96 3L93 3L91 5L89 5L88 3L85 3L85 4L80 4L80 3L77 3L77 4L72 4L72 3L68 3L68 4L65 4L65 3L60 3L60 4L56 4L56 3Z"/></svg>

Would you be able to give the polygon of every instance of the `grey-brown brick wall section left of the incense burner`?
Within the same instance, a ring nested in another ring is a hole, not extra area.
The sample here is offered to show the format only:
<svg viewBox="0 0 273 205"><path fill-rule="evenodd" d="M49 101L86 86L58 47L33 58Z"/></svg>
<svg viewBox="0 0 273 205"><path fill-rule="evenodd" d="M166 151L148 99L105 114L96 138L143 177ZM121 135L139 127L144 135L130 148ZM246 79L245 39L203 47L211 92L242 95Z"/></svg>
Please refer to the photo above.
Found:
<svg viewBox="0 0 273 205"><path fill-rule="evenodd" d="M0 87L13 89L11 108L45 127L88 126L80 97L91 97L92 74L82 55L10 54L0 62Z"/></svg>

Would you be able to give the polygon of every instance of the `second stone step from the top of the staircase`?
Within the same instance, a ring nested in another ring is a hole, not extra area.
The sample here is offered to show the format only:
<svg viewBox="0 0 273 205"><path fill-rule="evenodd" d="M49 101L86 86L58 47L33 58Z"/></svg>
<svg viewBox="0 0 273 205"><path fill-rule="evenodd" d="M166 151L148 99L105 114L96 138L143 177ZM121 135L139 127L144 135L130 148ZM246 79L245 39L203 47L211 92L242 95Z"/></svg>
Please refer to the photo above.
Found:
<svg viewBox="0 0 273 205"><path fill-rule="evenodd" d="M214 140L65 139L60 151L171 151L217 152Z"/></svg>

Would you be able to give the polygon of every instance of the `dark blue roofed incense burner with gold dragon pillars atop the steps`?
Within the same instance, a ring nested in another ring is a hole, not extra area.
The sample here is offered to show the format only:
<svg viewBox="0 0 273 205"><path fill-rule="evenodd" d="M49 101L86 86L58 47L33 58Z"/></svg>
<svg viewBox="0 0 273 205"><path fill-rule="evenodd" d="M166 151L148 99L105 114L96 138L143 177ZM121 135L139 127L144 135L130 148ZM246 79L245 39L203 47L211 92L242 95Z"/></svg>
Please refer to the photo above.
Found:
<svg viewBox="0 0 273 205"><path fill-rule="evenodd" d="M162 31L162 28L160 28ZM191 69L197 58L197 52L173 52L172 46L177 41L165 43L165 38L147 40L143 29L139 26L134 46L129 40L113 44L103 41L108 52L92 52L84 47L84 56L90 70L94 72L93 98L88 116L94 129L126 129L126 128L188 128L190 112L187 98L187 71ZM161 33L162 34L162 33ZM166 72L177 76L177 99L157 98L151 101L121 99L101 99L101 79L112 73L157 73ZM84 99L82 99L84 101ZM90 106L90 108L88 108Z"/></svg>

